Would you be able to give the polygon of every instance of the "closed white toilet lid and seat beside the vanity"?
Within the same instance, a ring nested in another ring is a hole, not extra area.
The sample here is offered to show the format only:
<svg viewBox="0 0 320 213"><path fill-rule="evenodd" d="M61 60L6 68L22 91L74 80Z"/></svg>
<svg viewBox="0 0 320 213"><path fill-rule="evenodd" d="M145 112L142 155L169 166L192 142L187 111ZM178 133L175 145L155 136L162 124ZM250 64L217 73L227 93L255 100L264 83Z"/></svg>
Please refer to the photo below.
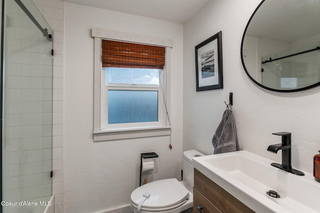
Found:
<svg viewBox="0 0 320 213"><path fill-rule="evenodd" d="M177 179L161 179L146 183L131 193L131 202L138 205L143 193L150 196L142 204L144 208L164 208L176 205L189 198L188 190Z"/></svg>

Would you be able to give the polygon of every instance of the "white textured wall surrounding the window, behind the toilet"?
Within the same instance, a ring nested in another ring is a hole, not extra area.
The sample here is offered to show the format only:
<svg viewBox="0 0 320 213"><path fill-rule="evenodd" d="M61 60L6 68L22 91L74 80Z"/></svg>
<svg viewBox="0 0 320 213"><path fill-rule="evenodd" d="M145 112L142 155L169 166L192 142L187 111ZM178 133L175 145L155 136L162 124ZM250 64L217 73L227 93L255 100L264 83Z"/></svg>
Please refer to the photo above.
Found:
<svg viewBox="0 0 320 213"><path fill-rule="evenodd" d="M139 156L156 152L153 180L182 169L181 24L65 2L64 5L64 212L96 212L129 205L139 182ZM172 146L169 137L93 142L93 38L91 28L172 39Z"/></svg>

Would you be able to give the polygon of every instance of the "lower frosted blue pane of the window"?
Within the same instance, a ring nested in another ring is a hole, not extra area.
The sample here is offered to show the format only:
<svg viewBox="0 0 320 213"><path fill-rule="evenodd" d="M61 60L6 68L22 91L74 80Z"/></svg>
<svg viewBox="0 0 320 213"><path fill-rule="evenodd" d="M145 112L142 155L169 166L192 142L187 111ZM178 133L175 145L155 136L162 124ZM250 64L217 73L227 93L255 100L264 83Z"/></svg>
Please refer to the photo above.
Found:
<svg viewBox="0 0 320 213"><path fill-rule="evenodd" d="M158 91L108 90L108 123L158 121Z"/></svg>

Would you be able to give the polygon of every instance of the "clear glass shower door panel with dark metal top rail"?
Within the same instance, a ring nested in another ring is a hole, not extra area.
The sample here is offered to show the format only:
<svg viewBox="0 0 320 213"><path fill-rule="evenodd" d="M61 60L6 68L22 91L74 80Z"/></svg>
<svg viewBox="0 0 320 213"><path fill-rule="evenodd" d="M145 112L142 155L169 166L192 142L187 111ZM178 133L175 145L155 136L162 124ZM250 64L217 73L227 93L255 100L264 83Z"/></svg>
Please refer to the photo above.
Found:
<svg viewBox="0 0 320 213"><path fill-rule="evenodd" d="M1 22L0 212L43 212L52 194L53 33L32 0L2 0Z"/></svg>

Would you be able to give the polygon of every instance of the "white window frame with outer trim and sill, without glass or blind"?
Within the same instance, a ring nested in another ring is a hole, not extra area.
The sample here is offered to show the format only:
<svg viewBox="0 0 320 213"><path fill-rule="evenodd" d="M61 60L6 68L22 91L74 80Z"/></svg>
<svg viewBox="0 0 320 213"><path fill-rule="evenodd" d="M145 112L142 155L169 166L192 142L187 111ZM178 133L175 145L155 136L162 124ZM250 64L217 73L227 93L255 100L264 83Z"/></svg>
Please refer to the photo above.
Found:
<svg viewBox="0 0 320 213"><path fill-rule="evenodd" d="M170 49L173 47L173 41L170 39L156 38L132 33L117 32L107 29L92 28L91 36L94 38L94 103L93 103L93 140L116 140L137 137L150 137L160 135L170 135L171 126L168 122L169 100L170 100ZM113 39L126 42L136 42L150 45L165 46L165 71L161 71L161 86L143 85L143 84L105 84L104 71L102 71L101 62L101 40ZM121 123L106 124L102 119L107 113L107 104L102 104L107 100L108 89L125 90L143 90L145 86L154 87L158 90L158 121L141 123ZM163 95L165 96L163 98ZM166 103L166 107L164 106Z"/></svg>

